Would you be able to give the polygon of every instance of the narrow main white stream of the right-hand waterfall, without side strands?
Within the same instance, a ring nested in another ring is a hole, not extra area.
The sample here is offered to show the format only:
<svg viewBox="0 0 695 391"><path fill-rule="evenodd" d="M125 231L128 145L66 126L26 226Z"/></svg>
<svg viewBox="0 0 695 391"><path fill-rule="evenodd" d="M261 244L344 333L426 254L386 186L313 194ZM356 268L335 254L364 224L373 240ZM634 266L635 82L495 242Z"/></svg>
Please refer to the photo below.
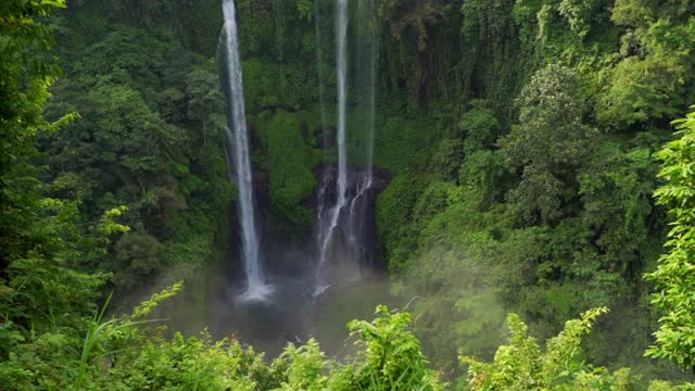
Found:
<svg viewBox="0 0 695 391"><path fill-rule="evenodd" d="M336 204L328 212L326 227L319 227L319 254L316 267L314 295L328 288L325 275L327 255L340 214L348 204L348 151L345 146L345 110L348 102L348 0L336 0L336 63L338 72L338 179L336 180Z"/></svg>

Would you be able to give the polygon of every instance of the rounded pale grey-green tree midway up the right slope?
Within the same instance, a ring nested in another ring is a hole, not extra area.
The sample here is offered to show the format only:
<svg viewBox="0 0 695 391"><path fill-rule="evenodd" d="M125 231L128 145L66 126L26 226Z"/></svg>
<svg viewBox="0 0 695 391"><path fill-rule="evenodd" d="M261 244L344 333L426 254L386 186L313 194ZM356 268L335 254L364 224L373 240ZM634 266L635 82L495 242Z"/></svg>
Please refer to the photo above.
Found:
<svg viewBox="0 0 695 391"><path fill-rule="evenodd" d="M589 153L594 130L582 122L579 88L568 67L539 71L521 91L519 125L500 141L507 167L522 169L509 199L525 224L561 216L563 190Z"/></svg>

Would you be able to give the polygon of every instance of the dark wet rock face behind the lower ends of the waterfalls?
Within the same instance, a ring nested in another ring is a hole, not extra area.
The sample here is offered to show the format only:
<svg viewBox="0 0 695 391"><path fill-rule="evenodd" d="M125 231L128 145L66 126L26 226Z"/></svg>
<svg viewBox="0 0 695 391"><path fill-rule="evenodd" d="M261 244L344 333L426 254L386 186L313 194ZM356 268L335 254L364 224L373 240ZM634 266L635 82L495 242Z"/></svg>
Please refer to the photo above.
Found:
<svg viewBox="0 0 695 391"><path fill-rule="evenodd" d="M317 187L304 207L313 211L317 220L323 207L330 207L336 200L336 180L338 167L334 164L319 165L314 169ZM267 174L254 171L254 192L256 207L260 216L260 240L263 267L273 277L301 277L313 276L317 264L318 248L316 243L317 227L293 226L279 220L274 216L269 207L269 181ZM364 184L364 167L349 167L348 194L351 201L340 214L339 235L331 250L331 256L339 260L359 260L362 269L383 269L382 258L379 252L379 242L376 229L376 201L379 193L387 188L392 179L391 173L375 168L371 186L364 190L361 197L356 195ZM326 206L329 205L329 206ZM231 222L231 224L236 224ZM318 226L318 224L315 224ZM236 226L235 226L236 227ZM236 228L235 228L236 229ZM231 238L237 239L237 238ZM238 241L232 242L230 256L237 257ZM237 265L235 262L232 265ZM241 270L229 270L229 277L238 279ZM334 268L336 278L342 277L346 270Z"/></svg>

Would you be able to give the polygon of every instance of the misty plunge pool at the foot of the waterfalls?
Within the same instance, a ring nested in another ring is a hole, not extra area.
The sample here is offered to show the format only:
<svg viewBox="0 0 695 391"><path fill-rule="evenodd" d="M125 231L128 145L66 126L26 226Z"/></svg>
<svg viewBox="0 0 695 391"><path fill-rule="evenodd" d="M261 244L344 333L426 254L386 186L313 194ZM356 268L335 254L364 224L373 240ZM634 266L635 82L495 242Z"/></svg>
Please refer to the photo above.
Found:
<svg viewBox="0 0 695 391"><path fill-rule="evenodd" d="M285 262L306 262L290 250ZM393 305L383 275L363 275L352 283L331 287L315 299L313 273L270 275L273 294L265 301L236 300L233 280L220 278L208 298L207 327L215 338L232 337L256 351L276 357L288 343L319 341L329 355L340 354L352 319L371 319L378 304Z"/></svg>

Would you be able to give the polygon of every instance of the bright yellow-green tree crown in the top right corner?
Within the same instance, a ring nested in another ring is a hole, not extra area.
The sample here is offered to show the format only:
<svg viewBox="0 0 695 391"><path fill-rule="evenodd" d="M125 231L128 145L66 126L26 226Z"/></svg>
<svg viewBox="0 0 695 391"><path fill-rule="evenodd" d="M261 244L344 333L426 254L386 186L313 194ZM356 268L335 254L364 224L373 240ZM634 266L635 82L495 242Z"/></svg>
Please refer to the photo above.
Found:
<svg viewBox="0 0 695 391"><path fill-rule="evenodd" d="M688 101L695 18L678 23L641 1L618 1L612 18L628 26L623 56L609 71L608 84L597 100L597 117L616 127L672 118Z"/></svg>

